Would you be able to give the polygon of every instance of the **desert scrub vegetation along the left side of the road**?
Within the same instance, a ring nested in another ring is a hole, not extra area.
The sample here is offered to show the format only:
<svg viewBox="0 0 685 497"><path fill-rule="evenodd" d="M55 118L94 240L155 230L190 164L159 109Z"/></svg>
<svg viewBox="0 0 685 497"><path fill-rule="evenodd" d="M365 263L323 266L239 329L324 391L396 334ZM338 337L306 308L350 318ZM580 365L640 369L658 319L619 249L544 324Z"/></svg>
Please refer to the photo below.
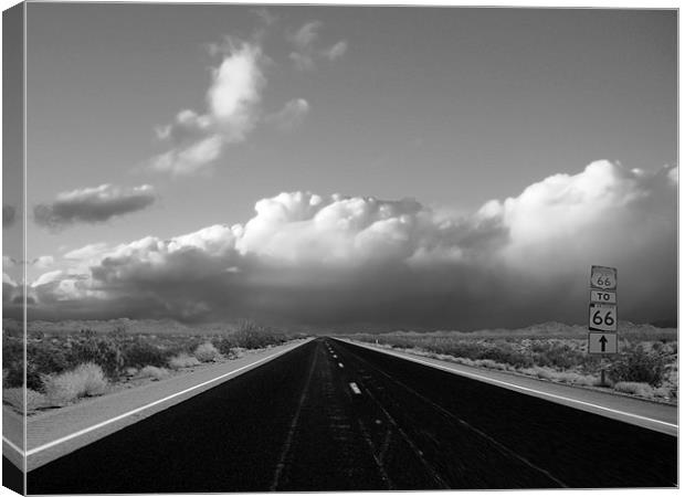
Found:
<svg viewBox="0 0 685 497"><path fill-rule="evenodd" d="M293 337L253 321L211 334L133 334L124 327L44 332L27 339L27 411L66 405L116 390L126 382L161 381L201 364L242 357ZM2 332L2 401L22 411L23 338Z"/></svg>

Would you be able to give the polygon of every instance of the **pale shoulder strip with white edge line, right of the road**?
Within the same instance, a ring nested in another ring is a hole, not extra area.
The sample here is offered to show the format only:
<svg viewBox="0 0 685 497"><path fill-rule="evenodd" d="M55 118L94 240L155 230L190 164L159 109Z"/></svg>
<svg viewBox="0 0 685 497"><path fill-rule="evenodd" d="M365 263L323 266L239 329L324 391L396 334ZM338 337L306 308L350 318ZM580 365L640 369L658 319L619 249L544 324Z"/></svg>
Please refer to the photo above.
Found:
<svg viewBox="0 0 685 497"><path fill-rule="evenodd" d="M565 383L539 380L523 374L457 364L425 356L389 350L387 348L376 347L371 343L362 343L356 340L340 340L359 347L377 350L382 353L388 353L443 369L455 374L462 374L479 381L497 384L498 387L519 391L529 395L539 396L541 399L565 404L575 409L609 416L662 433L677 435L677 405L651 402L634 396L615 394L613 391L604 391L603 389L581 388Z"/></svg>

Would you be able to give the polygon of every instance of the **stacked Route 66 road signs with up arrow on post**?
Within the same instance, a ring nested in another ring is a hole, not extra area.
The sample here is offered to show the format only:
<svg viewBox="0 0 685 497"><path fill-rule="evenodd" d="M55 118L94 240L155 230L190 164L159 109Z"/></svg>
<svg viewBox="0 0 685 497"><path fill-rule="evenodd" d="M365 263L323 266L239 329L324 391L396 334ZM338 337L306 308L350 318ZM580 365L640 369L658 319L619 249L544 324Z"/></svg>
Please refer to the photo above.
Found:
<svg viewBox="0 0 685 497"><path fill-rule="evenodd" d="M590 271L590 313L588 315L588 353L602 356L601 385L607 385L607 355L619 352L618 274L615 267L592 266Z"/></svg>

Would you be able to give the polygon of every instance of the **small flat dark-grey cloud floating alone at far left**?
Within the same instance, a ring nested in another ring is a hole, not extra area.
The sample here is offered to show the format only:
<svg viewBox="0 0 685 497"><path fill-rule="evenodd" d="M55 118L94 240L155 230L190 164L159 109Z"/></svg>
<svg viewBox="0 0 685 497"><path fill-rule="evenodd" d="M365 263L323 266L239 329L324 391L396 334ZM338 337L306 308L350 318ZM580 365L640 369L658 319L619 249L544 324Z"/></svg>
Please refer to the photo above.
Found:
<svg viewBox="0 0 685 497"><path fill-rule="evenodd" d="M54 202L35 205L33 216L38 224L53 229L73 223L102 223L144 210L155 200L155 189L149 184L134 188L101 184L60 193Z"/></svg>

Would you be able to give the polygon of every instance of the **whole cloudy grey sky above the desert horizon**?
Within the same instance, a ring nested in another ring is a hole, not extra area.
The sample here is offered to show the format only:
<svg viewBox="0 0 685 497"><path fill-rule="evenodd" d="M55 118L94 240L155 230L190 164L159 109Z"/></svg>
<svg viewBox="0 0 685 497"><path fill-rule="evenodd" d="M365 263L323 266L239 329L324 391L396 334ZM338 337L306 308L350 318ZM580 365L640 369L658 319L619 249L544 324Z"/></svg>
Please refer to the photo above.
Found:
<svg viewBox="0 0 685 497"><path fill-rule="evenodd" d="M620 319L676 318L674 10L29 3L27 27L30 318L582 324L592 264Z"/></svg>

